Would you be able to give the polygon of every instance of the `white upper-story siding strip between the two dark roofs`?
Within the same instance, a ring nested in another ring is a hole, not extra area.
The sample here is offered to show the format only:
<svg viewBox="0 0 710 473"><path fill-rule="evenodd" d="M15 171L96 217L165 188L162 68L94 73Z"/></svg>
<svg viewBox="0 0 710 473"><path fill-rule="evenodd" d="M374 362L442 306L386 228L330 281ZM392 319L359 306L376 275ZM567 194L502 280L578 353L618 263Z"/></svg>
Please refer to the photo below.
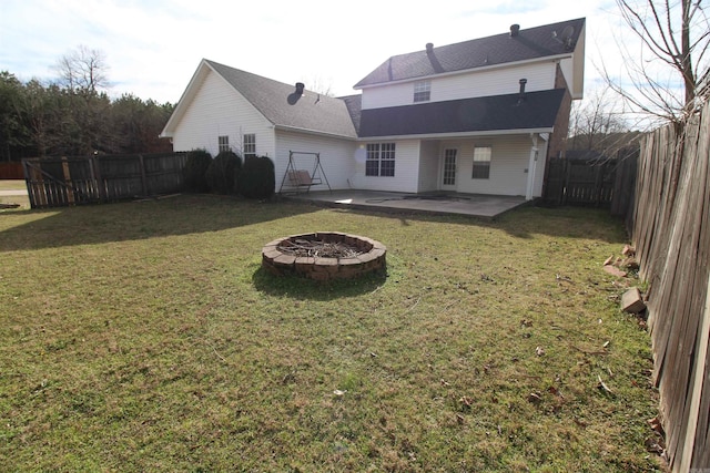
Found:
<svg viewBox="0 0 710 473"><path fill-rule="evenodd" d="M528 92L552 89L555 62L433 78L430 102L517 93L524 78L528 80ZM363 89L363 110L410 104L414 104L414 81Z"/></svg>

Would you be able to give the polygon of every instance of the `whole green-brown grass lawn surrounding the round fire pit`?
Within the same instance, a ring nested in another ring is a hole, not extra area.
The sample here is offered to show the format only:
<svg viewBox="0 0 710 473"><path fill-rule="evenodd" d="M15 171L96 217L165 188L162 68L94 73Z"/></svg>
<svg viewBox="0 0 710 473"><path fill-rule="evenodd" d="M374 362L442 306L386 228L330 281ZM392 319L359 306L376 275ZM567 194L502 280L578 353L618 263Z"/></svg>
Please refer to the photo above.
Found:
<svg viewBox="0 0 710 473"><path fill-rule="evenodd" d="M261 269L315 230L387 274ZM0 214L8 471L660 471L604 212L495 223L213 196ZM610 389L601 390L599 380Z"/></svg>

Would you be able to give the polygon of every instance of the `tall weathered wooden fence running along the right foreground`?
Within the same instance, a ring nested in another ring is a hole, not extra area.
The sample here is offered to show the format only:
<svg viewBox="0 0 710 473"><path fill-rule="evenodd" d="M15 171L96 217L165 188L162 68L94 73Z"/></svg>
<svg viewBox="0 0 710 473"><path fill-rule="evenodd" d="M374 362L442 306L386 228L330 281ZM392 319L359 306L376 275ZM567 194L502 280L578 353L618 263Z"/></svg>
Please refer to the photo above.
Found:
<svg viewBox="0 0 710 473"><path fill-rule="evenodd" d="M710 103L641 147L633 241L674 472L710 471Z"/></svg>

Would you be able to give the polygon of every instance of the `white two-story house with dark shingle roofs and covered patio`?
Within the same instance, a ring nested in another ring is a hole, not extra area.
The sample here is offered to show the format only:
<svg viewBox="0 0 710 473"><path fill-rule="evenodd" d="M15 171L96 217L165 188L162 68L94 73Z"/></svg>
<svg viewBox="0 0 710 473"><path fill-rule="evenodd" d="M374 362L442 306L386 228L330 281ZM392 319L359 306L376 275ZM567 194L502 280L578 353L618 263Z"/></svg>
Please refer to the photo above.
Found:
<svg viewBox="0 0 710 473"><path fill-rule="evenodd" d="M429 43L387 59L345 97L203 60L161 136L175 151L270 156L277 189L290 160L312 165L298 151L318 153L332 188L531 199L564 150L584 63L585 19Z"/></svg>

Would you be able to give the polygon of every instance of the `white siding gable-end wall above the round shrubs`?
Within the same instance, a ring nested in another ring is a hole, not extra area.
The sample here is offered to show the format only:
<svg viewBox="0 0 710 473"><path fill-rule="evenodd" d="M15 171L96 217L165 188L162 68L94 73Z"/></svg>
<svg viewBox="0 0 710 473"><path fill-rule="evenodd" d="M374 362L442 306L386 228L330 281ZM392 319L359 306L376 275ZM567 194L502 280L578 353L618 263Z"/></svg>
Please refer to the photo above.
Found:
<svg viewBox="0 0 710 473"><path fill-rule="evenodd" d="M174 151L205 148L219 153L219 136L229 136L230 146L241 154L242 135L256 135L256 154L275 154L272 124L239 92L210 72L193 102L175 127Z"/></svg>

